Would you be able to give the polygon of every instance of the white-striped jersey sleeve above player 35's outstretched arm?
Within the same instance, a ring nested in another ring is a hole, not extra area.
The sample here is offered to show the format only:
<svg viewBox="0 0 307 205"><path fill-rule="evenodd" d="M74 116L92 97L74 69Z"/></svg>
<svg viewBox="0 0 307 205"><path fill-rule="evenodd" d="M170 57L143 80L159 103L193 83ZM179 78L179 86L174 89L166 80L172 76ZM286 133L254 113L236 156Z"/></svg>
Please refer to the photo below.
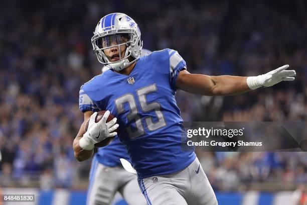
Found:
<svg viewBox="0 0 307 205"><path fill-rule="evenodd" d="M169 49L171 86L177 90L176 80L182 70L187 69L186 61L175 50Z"/></svg>

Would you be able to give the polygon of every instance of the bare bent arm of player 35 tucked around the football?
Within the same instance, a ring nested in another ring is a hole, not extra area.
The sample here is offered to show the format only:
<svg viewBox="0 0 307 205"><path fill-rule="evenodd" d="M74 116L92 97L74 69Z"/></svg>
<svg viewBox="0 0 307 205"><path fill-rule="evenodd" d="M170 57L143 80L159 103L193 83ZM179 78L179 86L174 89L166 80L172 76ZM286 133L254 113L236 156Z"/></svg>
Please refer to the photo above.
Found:
<svg viewBox="0 0 307 205"><path fill-rule="evenodd" d="M91 117L91 115L93 113L94 112L91 112L91 111L87 111L87 112L84 113L84 122L82 123L80 130L79 130L79 132L78 132L78 134L77 134L77 136L76 136L76 138L74 139L74 142L73 142L73 149L74 149L75 157L80 162L91 158L91 156L93 155L94 149L84 150L79 145L79 141L85 133L84 126L85 126L87 120Z"/></svg>

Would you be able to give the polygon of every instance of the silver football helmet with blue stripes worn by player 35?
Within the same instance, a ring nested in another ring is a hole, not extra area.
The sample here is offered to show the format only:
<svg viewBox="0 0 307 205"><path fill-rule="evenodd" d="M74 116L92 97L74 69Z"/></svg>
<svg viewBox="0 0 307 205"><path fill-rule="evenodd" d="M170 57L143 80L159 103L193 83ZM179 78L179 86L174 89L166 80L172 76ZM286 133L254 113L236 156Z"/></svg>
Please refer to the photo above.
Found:
<svg viewBox="0 0 307 205"><path fill-rule="evenodd" d="M98 61L109 68L120 71L140 57L143 46L140 36L140 30L133 19L122 13L113 13L100 19L91 42ZM126 46L124 56L121 56L120 53L121 45ZM119 56L116 56L119 60L111 62L104 50L114 47L117 47L119 51Z"/></svg>

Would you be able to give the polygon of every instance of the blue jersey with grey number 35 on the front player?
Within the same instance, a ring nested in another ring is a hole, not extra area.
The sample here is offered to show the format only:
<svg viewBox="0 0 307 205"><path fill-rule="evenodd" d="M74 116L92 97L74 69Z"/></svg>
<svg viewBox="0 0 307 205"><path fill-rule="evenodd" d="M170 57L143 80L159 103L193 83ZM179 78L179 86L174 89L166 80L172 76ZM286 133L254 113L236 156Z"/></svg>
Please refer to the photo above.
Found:
<svg viewBox="0 0 307 205"><path fill-rule="evenodd" d="M88 107L118 119L119 138L140 178L177 172L196 157L181 147L186 135L175 93L183 69L178 52L164 49L141 57L129 75L108 70L81 87L93 102Z"/></svg>

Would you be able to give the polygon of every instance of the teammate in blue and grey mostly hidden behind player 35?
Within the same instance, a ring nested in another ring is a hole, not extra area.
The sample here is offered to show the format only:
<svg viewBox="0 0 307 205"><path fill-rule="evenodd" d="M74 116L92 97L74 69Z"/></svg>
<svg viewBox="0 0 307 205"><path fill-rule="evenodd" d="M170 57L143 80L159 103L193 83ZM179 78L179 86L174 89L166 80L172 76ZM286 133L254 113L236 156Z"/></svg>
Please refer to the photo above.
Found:
<svg viewBox="0 0 307 205"><path fill-rule="evenodd" d="M141 56L150 54L151 51L142 49ZM104 66L102 73L108 68ZM80 93L79 108L81 112L99 111L94 102ZM91 107L91 106L93 107ZM94 155L89 175L87 191L87 204L111 204L115 193L118 191L129 205L145 205L146 200L142 195L137 177L123 169L119 161L124 158L130 161L126 147L116 136L106 147L98 148Z"/></svg>

